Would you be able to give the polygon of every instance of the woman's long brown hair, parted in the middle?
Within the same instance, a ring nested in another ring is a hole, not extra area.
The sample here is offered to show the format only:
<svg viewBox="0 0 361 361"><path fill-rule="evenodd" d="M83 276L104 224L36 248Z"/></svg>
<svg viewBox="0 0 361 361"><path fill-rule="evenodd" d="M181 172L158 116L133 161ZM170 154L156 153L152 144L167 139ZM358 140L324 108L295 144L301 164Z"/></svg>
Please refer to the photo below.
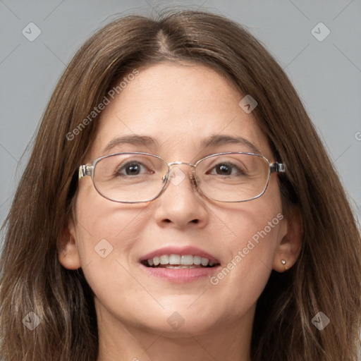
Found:
<svg viewBox="0 0 361 361"><path fill-rule="evenodd" d="M361 326L361 241L343 187L322 142L281 67L231 20L179 11L157 20L120 18L85 42L66 68L45 111L30 161L4 224L1 255L0 355L6 361L94 361L97 318L82 270L58 261L76 187L76 169L97 129L79 127L114 81L159 61L211 66L240 94L258 102L255 115L275 157L283 207L295 204L304 235L298 261L272 271L257 302L252 361L355 361ZM41 323L23 324L29 312ZM312 318L331 320L319 330Z"/></svg>

